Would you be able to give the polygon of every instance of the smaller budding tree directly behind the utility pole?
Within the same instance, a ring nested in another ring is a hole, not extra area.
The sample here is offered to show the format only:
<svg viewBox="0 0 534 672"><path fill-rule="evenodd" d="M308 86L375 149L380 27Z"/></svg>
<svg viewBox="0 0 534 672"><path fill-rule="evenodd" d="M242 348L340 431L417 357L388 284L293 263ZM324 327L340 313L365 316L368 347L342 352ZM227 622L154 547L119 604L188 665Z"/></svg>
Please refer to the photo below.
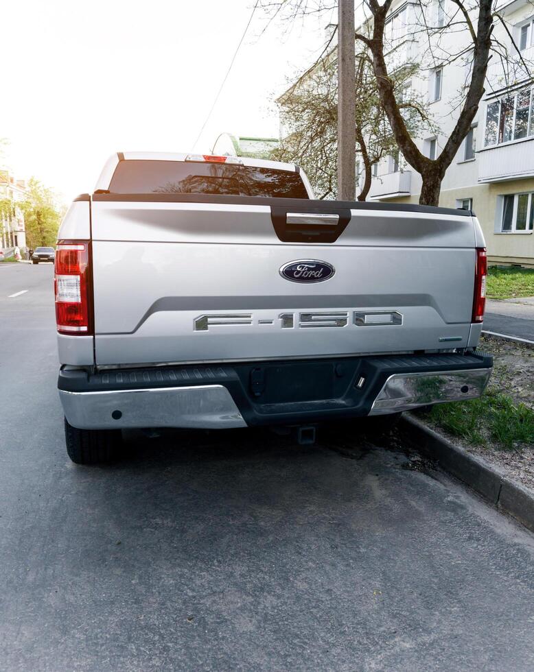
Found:
<svg viewBox="0 0 534 672"><path fill-rule="evenodd" d="M394 80L395 91L402 98L406 126L413 136L417 136L421 122L431 124L422 101L411 93L406 95L406 83L416 70L417 67L411 64L399 68ZM337 191L337 95L337 56L334 50L325 58L321 57L277 101L285 136L272 156L277 160L299 163L321 199L335 197ZM373 165L384 156L398 152L395 136L380 104L367 48L360 49L356 54L354 123L355 153L362 165L358 200L364 201L371 188Z"/></svg>

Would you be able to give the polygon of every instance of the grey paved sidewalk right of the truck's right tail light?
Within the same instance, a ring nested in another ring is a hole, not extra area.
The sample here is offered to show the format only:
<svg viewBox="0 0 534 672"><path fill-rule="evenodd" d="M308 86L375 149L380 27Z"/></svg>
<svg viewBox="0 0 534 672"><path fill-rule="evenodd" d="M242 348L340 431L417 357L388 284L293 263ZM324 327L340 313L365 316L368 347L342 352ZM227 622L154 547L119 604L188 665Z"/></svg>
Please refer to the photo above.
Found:
<svg viewBox="0 0 534 672"><path fill-rule="evenodd" d="M483 331L534 341L534 296L487 299Z"/></svg>

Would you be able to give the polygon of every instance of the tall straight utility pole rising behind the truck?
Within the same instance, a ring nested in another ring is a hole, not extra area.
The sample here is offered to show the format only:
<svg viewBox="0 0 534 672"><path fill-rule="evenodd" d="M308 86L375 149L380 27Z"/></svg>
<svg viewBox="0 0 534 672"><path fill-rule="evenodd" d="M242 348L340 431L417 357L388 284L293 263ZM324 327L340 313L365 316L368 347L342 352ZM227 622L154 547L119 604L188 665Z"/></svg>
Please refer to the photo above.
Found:
<svg viewBox="0 0 534 672"><path fill-rule="evenodd" d="M338 200L356 198L354 0L338 0Z"/></svg>

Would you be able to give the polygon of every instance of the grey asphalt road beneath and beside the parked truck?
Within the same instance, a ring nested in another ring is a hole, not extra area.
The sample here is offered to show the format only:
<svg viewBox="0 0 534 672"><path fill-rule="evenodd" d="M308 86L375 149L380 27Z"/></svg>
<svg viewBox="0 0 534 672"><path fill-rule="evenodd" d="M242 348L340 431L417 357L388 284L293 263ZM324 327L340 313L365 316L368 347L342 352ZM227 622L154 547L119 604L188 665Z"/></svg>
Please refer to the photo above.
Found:
<svg viewBox="0 0 534 672"><path fill-rule="evenodd" d="M402 446L131 433L71 464L51 275L0 265L1 670L534 669L533 536Z"/></svg>

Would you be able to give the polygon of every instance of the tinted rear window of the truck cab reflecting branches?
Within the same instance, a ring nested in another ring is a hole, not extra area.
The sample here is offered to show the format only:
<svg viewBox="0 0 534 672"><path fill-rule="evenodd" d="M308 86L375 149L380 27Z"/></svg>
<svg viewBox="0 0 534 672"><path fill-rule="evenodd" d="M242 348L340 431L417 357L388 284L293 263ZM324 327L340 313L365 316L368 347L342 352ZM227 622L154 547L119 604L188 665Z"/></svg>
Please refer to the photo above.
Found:
<svg viewBox="0 0 534 672"><path fill-rule="evenodd" d="M299 173L193 161L121 161L111 178L109 191L308 198Z"/></svg>

